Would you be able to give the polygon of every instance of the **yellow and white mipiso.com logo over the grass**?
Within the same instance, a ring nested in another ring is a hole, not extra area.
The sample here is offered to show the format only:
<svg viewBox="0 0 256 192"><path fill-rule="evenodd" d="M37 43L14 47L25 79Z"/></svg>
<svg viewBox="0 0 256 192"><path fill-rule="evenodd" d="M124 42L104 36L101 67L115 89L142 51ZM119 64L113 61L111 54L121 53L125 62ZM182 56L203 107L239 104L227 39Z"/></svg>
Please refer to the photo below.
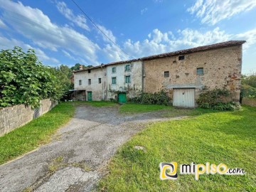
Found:
<svg viewBox="0 0 256 192"><path fill-rule="evenodd" d="M160 163L160 178L165 179L177 179L178 164L177 162ZM198 180L202 174L220 174L220 175L243 175L245 171L240 168L230 169L225 164L181 164L179 167L179 174L194 174L195 179Z"/></svg>

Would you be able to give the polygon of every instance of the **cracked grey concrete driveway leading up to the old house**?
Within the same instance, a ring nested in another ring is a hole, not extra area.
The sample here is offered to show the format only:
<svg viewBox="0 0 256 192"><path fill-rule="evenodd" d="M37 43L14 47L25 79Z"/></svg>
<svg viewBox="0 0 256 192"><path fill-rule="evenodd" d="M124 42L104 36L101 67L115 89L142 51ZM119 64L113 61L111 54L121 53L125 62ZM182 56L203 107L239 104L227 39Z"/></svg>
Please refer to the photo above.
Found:
<svg viewBox="0 0 256 192"><path fill-rule="evenodd" d="M0 191L91 191L117 148L161 112L124 116L80 105L50 144L0 166Z"/></svg>

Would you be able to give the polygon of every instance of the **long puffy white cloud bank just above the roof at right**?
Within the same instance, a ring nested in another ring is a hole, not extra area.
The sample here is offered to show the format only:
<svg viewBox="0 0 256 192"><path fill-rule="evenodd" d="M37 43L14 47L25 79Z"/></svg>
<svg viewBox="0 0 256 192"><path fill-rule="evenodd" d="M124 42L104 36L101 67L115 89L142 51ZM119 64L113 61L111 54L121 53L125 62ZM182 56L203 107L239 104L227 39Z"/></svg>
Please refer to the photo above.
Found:
<svg viewBox="0 0 256 192"><path fill-rule="evenodd" d="M206 46L213 43L219 43L230 40L245 40L244 48L247 49L256 43L256 28L245 33L229 34L220 28L214 28L213 31L200 32L191 28L178 30L177 35L168 31L163 33L159 29L154 29L144 41L128 39L124 43L124 50L136 58L159 53L167 53L184 48L193 48L197 46Z"/></svg>

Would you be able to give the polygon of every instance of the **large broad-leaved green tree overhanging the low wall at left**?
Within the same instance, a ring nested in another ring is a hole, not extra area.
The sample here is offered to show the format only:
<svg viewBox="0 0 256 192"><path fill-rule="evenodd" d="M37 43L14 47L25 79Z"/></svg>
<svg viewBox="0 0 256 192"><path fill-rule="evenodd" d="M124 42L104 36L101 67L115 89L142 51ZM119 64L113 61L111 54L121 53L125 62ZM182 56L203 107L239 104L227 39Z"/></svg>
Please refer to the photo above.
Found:
<svg viewBox="0 0 256 192"><path fill-rule="evenodd" d="M40 100L58 100L63 87L53 69L42 65L34 50L19 47L0 51L0 107L25 104L38 107Z"/></svg>

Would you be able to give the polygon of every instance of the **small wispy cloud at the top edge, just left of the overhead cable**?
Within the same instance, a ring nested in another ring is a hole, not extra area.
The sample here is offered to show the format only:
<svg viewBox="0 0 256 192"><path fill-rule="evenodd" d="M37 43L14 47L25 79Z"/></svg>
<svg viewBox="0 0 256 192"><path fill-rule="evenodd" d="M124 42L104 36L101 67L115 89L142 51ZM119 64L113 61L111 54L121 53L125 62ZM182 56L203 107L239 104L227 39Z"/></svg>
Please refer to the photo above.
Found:
<svg viewBox="0 0 256 192"><path fill-rule="evenodd" d="M82 15L75 16L73 14L73 11L69 9L68 6L63 1L61 2L58 1L56 6L58 11L60 11L60 13L63 14L63 16L65 16L65 18L68 18L68 20L75 23L77 26L80 26L80 28L84 28L85 30L90 31L90 28L87 26L85 16L82 16Z"/></svg>

